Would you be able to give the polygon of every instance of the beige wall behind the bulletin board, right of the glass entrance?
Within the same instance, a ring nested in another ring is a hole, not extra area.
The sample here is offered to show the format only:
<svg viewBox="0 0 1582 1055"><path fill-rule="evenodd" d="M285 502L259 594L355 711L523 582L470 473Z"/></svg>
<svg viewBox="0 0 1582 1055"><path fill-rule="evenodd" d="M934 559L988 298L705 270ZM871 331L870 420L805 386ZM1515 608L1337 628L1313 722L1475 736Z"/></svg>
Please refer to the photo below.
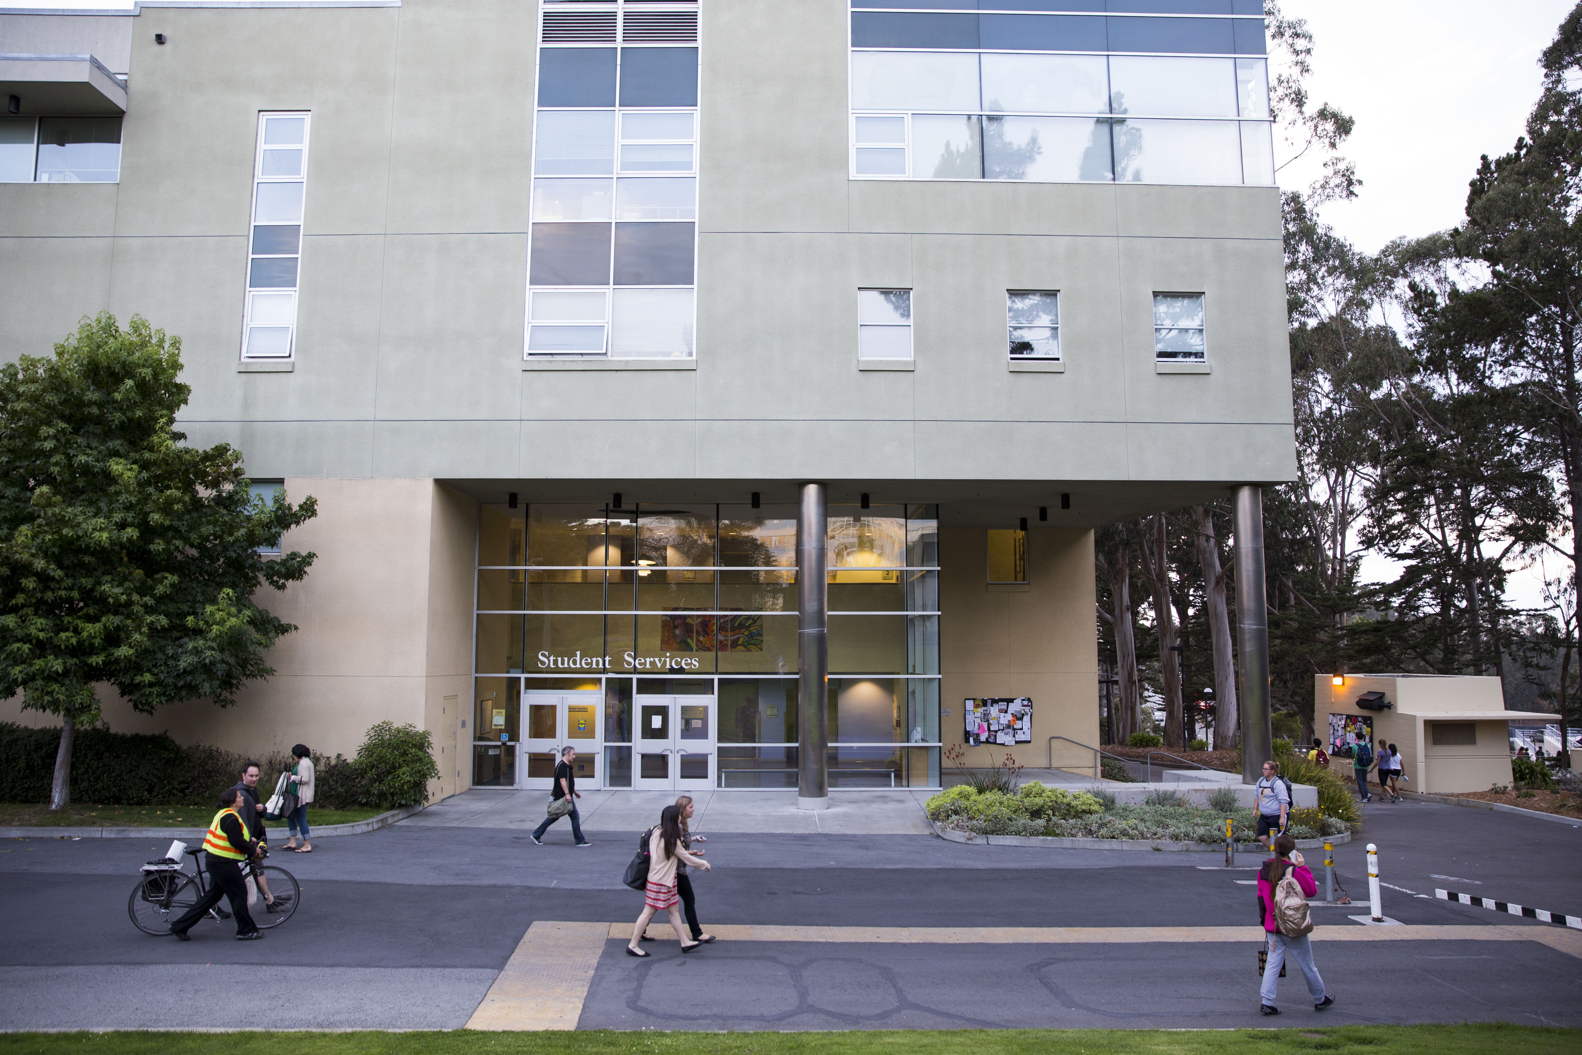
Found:
<svg viewBox="0 0 1582 1055"><path fill-rule="evenodd" d="M1030 696L1033 742L968 748L970 766L986 766L990 751L995 761L1009 753L1022 766L1047 766L1054 734L1096 745L1093 533L1033 527L1028 584L990 585L989 533L941 528L940 568L940 739L963 742L965 698ZM1093 753L1057 742L1055 764L1092 772Z"/></svg>

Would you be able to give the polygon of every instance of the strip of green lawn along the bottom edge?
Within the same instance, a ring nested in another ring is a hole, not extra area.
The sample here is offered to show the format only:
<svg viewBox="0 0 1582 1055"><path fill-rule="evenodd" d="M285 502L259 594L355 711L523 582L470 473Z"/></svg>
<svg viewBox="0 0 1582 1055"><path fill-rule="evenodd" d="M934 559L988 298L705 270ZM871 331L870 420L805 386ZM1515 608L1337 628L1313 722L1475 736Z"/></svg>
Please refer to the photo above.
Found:
<svg viewBox="0 0 1582 1055"><path fill-rule="evenodd" d="M223 1019L223 1012L221 1019ZM1307 1020L1310 1015L1302 1015ZM202 1033L9 1033L0 1055L207 1055L218 1041ZM1517 1025L1410 1025L1285 1030L918 1030L850 1033L231 1033L226 1050L247 1055L1576 1055L1582 1031Z"/></svg>

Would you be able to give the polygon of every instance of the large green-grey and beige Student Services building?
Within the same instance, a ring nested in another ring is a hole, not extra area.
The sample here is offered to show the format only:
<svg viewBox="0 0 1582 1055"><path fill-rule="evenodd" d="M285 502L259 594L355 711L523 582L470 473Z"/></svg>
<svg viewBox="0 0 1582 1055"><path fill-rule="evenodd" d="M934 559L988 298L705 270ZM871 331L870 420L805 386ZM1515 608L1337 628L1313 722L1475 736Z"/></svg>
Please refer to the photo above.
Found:
<svg viewBox="0 0 1582 1055"><path fill-rule="evenodd" d="M1264 52L1253 0L0 14L0 354L144 315L188 440L320 501L275 677L108 721L411 721L440 796L1088 761L1093 528L1294 473Z"/></svg>

